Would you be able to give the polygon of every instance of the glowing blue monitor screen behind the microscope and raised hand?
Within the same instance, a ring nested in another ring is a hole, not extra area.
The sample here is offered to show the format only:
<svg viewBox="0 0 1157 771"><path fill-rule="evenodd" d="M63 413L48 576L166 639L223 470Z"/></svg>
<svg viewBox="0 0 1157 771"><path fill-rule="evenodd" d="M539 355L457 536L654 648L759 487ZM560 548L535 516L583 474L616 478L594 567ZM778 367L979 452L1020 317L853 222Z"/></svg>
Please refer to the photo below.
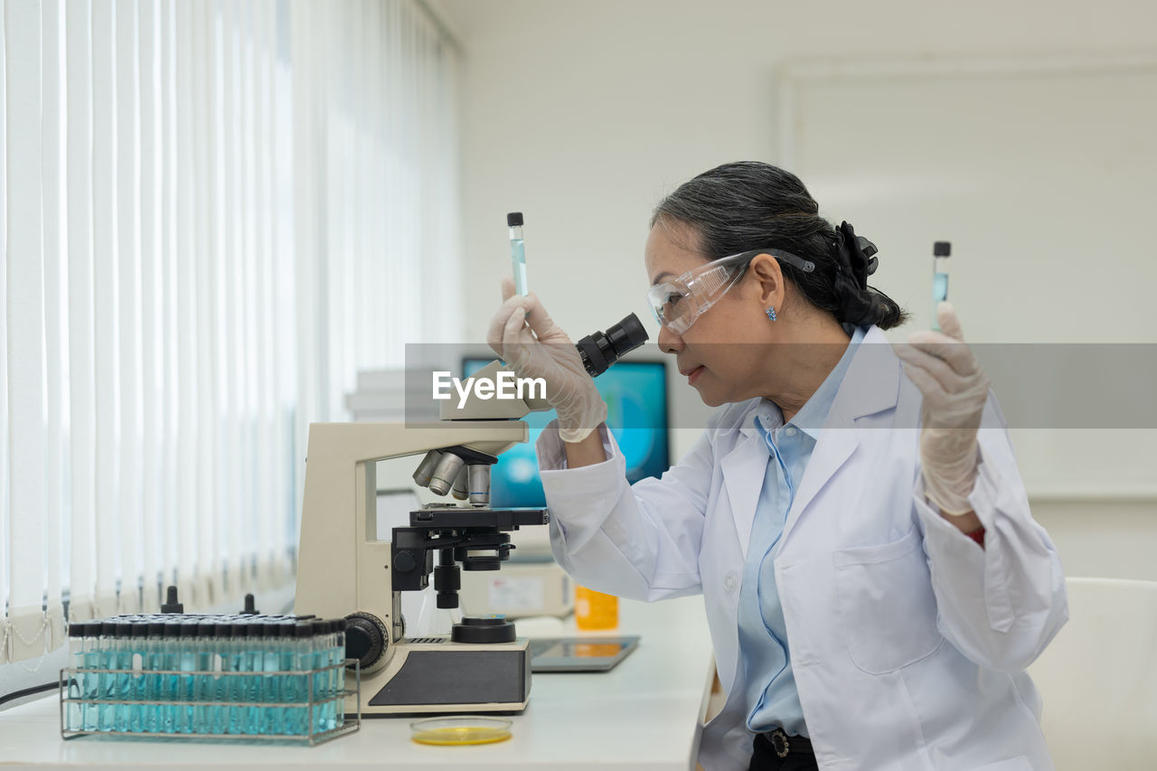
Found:
<svg viewBox="0 0 1157 771"><path fill-rule="evenodd" d="M463 376L469 377L491 361L463 360ZM627 482L662 476L670 467L663 362L620 361L596 377L595 386L606 402L606 426L622 450ZM554 410L531 412L523 418L530 427L530 441L499 455L491 471L491 506L546 506L535 442L554 418Z"/></svg>

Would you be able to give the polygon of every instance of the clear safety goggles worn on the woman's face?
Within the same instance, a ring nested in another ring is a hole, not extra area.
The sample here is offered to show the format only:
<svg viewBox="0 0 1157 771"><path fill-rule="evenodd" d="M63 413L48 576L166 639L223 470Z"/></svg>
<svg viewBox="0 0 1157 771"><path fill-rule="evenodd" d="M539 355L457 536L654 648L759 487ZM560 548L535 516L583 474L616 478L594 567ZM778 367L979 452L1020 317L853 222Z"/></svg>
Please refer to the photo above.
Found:
<svg viewBox="0 0 1157 771"><path fill-rule="evenodd" d="M751 249L738 255L720 257L700 265L669 281L661 281L647 292L647 304L663 326L676 335L683 335L695 320L720 301L728 291L739 282L751 260L757 255L771 255L804 273L816 270L810 259L797 257L782 249Z"/></svg>

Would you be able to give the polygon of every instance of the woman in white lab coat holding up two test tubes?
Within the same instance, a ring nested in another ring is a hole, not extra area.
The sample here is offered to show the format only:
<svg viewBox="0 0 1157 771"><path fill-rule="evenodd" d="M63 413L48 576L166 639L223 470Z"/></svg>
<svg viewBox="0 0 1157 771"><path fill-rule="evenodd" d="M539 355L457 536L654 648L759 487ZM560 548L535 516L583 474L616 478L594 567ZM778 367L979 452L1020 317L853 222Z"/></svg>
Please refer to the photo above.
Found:
<svg viewBox="0 0 1157 771"><path fill-rule="evenodd" d="M488 340L559 414L538 443L555 558L610 594L702 593L728 695L706 771L1051 769L1024 669L1068 617L1056 551L952 307L893 351L874 252L764 163L665 198L658 344L718 409L633 486L574 345L507 285Z"/></svg>

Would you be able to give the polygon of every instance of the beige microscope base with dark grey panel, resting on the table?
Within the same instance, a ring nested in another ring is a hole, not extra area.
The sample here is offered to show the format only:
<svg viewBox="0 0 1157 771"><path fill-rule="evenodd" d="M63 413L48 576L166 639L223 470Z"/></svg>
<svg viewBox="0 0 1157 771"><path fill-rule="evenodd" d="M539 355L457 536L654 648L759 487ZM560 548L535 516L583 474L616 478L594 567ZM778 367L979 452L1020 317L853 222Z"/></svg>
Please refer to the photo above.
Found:
<svg viewBox="0 0 1157 771"><path fill-rule="evenodd" d="M521 712L530 697L530 642L467 645L403 639L385 669L362 676L362 715ZM347 706L348 708L348 706Z"/></svg>

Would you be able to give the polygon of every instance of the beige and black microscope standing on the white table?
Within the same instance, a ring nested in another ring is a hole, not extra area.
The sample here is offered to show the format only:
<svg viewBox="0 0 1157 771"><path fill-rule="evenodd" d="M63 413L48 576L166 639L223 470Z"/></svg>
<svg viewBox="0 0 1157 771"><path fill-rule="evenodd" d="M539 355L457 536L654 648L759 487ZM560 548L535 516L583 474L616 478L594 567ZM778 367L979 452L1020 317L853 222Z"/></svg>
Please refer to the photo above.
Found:
<svg viewBox="0 0 1157 771"><path fill-rule="evenodd" d="M597 376L647 340L631 314L576 344ZM496 380L500 361L473 375ZM305 491L297 545L294 612L346 619L346 658L358 662L368 717L405 713L519 712L530 696L529 641L501 616L465 617L450 636L411 638L401 593L429 586L439 608L457 608L459 570L496 571L510 533L546 524L544 508L491 508L491 467L528 440L526 413L545 398L443 402L433 423L315 423L309 426ZM414 482L466 504L410 513L390 541L377 534L377 461L420 455ZM436 558L436 565L435 565ZM459 567L460 565L460 567ZM351 668L354 664L351 663ZM353 674L347 670L347 690ZM347 711L359 705L347 697Z"/></svg>

